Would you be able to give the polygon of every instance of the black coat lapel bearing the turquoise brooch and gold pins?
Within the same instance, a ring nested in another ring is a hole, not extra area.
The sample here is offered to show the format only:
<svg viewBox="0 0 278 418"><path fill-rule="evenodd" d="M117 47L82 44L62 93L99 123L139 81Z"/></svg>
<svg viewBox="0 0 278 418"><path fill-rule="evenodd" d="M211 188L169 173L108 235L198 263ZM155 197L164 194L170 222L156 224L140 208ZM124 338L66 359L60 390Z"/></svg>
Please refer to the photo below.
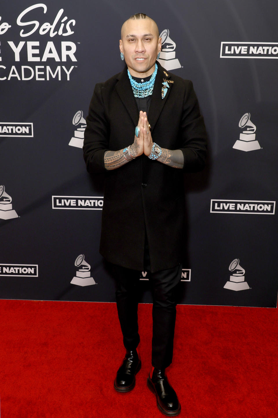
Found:
<svg viewBox="0 0 278 418"><path fill-rule="evenodd" d="M167 71L164 70L164 68L158 62L156 62L156 64L158 64L158 72L155 77L155 85L153 86L153 94L150 102L149 114L147 115L152 131L155 128L156 122L158 121L159 115L168 99L171 90L171 83L169 83L168 91L162 99L162 83L164 82L164 80L170 80L171 76L167 73Z"/></svg>

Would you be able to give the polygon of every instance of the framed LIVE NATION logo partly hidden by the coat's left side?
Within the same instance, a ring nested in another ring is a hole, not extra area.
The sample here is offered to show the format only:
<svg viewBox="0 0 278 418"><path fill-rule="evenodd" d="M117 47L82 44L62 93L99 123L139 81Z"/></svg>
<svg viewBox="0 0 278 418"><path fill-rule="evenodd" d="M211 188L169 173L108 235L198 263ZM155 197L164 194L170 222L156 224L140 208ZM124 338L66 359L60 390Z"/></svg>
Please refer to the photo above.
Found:
<svg viewBox="0 0 278 418"><path fill-rule="evenodd" d="M52 196L52 209L102 210L103 196Z"/></svg>

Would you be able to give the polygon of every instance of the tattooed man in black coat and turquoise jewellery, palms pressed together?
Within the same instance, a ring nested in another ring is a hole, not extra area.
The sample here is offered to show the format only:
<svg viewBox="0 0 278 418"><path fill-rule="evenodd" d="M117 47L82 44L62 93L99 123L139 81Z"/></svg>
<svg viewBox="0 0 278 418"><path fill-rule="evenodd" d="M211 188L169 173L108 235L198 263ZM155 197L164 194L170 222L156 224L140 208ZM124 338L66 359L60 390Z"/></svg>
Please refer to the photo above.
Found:
<svg viewBox="0 0 278 418"><path fill-rule="evenodd" d="M180 403L165 368L173 357L182 270L183 172L203 168L206 132L192 83L160 66L160 50L152 19L138 13L125 21L120 52L127 67L96 84L83 151L88 171L105 173L100 253L113 266L126 349L115 390L132 390L141 367L137 285L147 270L153 292L147 383L160 411L175 416Z"/></svg>

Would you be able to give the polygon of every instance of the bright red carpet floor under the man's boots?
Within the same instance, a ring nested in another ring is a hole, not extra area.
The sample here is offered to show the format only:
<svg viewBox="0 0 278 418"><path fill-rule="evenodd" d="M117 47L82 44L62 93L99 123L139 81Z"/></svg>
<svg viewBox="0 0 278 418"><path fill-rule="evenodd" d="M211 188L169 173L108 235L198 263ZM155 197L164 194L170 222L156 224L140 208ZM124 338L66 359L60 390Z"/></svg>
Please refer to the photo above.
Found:
<svg viewBox="0 0 278 418"><path fill-rule="evenodd" d="M139 305L142 369L122 394L115 303L0 300L1 418L163 417L146 386L151 308ZM177 306L166 374L181 418L278 416L277 319L277 309Z"/></svg>

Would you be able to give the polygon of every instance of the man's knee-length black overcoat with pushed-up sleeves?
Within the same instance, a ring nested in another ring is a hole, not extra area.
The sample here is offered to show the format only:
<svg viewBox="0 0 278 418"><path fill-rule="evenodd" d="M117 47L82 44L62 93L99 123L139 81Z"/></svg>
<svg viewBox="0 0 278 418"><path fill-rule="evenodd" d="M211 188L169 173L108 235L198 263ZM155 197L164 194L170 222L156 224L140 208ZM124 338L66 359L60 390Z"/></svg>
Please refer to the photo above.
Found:
<svg viewBox="0 0 278 418"><path fill-rule="evenodd" d="M172 168L140 155L120 168L104 166L106 150L133 143L139 112L127 68L95 85L84 135L84 159L89 173L105 174L100 254L111 263L143 270L145 231L151 271L178 265L183 257L183 171L203 168L206 131L193 84L158 64L148 121L153 142L180 149L184 168ZM163 79L169 89L162 99Z"/></svg>

